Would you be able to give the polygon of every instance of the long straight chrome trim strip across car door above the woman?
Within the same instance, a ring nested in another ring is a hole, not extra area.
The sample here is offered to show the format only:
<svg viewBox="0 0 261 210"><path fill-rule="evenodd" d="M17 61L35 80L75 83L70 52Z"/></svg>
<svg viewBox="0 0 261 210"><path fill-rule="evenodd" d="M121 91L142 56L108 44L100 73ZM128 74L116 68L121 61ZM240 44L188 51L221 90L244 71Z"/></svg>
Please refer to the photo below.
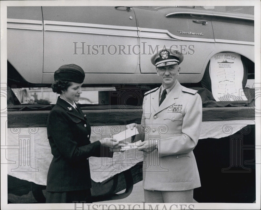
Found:
<svg viewBox="0 0 261 210"><path fill-rule="evenodd" d="M102 24L46 21L44 31L60 31L71 33L97 34L106 36L138 37L137 27L112 26Z"/></svg>

